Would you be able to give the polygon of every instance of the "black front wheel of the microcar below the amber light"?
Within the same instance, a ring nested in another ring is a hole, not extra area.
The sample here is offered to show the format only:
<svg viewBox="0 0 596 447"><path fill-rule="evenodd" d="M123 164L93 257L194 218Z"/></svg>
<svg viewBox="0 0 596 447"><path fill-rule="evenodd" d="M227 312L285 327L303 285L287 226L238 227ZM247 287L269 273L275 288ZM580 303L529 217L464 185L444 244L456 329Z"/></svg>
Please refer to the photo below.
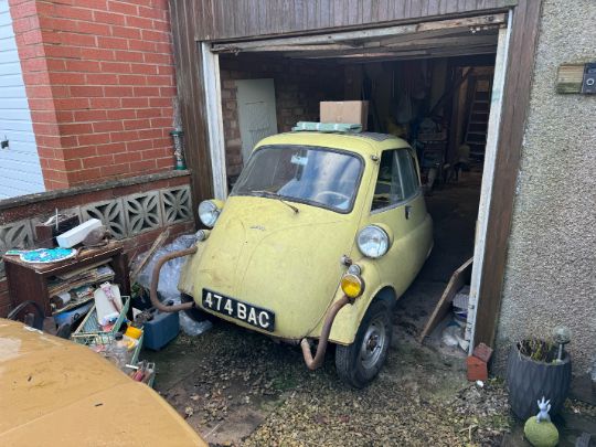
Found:
<svg viewBox="0 0 596 447"><path fill-rule="evenodd" d="M356 389L371 383L387 358L391 332L391 306L385 300L373 301L354 342L336 349L336 369L341 380Z"/></svg>

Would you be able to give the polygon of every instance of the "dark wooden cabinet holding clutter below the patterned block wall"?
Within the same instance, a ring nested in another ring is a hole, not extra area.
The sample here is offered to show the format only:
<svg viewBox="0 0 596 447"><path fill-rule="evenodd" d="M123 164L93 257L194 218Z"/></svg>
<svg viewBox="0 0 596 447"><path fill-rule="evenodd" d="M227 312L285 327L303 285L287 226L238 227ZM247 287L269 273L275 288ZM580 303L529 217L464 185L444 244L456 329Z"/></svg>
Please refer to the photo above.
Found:
<svg viewBox="0 0 596 447"><path fill-rule="evenodd" d="M47 280L56 275L85 268L97 263L109 260L114 269L114 284L120 287L121 295L130 295L128 276L128 257L120 243L113 242L105 247L82 251L76 257L52 264L29 264L19 256L2 256L7 273L9 294L12 306L32 300L41 305L45 316L52 315Z"/></svg>

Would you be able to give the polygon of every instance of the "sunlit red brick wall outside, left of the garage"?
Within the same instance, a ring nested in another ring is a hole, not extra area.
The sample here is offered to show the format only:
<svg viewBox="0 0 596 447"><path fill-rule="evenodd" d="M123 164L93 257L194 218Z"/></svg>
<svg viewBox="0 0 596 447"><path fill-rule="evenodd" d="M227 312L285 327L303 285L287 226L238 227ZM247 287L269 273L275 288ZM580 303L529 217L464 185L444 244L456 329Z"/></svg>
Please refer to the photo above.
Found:
<svg viewBox="0 0 596 447"><path fill-rule="evenodd" d="M47 189L171 169L167 0L10 0Z"/></svg>

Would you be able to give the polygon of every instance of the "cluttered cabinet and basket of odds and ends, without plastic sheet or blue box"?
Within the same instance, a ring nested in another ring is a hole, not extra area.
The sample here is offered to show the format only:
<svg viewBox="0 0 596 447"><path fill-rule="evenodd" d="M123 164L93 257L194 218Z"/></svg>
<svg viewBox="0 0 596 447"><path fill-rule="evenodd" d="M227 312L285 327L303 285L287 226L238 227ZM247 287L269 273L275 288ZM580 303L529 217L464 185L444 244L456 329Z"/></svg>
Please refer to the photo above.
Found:
<svg viewBox="0 0 596 447"><path fill-rule="evenodd" d="M132 307L123 245L110 241L99 220L79 223L57 211L35 230L38 248L3 256L13 301L31 302L42 313L26 315L25 321L89 347L134 380L152 385L156 365L139 361L148 321L135 318L141 311ZM39 292L31 294L23 283ZM149 326L155 338L155 324Z"/></svg>

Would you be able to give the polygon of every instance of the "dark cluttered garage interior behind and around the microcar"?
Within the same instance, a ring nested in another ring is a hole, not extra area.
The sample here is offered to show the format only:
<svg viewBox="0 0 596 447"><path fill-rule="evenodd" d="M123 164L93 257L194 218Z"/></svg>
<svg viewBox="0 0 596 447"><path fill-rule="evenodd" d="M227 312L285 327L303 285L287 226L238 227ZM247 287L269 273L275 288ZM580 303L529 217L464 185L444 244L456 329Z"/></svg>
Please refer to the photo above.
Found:
<svg viewBox="0 0 596 447"><path fill-rule="evenodd" d="M319 121L322 100L368 100L366 131L393 134L415 148L435 248L396 311L396 324L413 337L454 272L473 254L499 26L449 21L331 43L289 39L212 46L219 53L230 189L258 140L290 131L297 121ZM441 343L451 319L448 312L428 340L464 356L459 347Z"/></svg>

